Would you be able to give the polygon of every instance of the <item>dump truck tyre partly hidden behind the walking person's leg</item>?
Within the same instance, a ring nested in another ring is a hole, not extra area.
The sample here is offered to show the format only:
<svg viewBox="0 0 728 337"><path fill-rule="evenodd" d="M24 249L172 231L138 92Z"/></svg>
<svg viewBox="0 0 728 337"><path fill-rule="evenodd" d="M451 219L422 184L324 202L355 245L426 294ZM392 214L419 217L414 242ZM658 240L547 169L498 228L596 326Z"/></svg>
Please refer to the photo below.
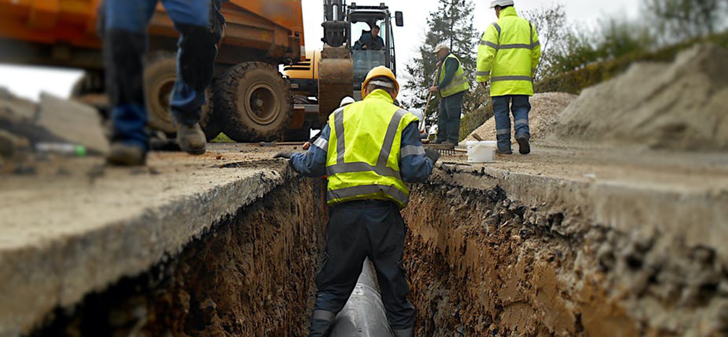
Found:
<svg viewBox="0 0 728 337"><path fill-rule="evenodd" d="M173 135L177 133L177 125L170 110L170 95L177 81L177 57L173 53L159 52L149 55L144 66L144 97L149 115L151 129ZM220 127L215 121L212 102L212 91L207 89L207 104L202 105L202 118L199 126L205 131L208 140L220 134Z"/></svg>

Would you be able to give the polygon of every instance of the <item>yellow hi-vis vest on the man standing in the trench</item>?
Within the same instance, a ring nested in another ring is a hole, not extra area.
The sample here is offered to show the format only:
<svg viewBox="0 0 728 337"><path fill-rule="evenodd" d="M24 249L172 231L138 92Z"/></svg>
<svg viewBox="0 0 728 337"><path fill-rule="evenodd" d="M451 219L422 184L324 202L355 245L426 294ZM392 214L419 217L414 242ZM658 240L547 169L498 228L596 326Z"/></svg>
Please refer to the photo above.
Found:
<svg viewBox="0 0 728 337"><path fill-rule="evenodd" d="M392 102L387 92L377 89L329 117L329 205L376 199L407 206L409 189L400 176L400 145L402 131L419 119Z"/></svg>

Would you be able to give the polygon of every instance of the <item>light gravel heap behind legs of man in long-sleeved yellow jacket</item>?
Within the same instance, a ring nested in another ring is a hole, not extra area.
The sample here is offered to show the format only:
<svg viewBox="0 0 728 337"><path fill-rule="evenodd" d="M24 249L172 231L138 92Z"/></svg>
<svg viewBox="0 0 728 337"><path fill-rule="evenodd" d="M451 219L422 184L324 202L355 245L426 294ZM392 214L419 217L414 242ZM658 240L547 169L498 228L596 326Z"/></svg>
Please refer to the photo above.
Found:
<svg viewBox="0 0 728 337"><path fill-rule="evenodd" d="M547 92L545 94L534 94L531 97L531 113L529 113L529 126L531 129L531 139L543 139L550 134L556 117L566 108L569 103L577 97L572 94L563 92ZM510 116L510 125L513 129L513 115ZM465 141L475 140L472 134L478 134L483 140L496 140L496 120L490 118L486 123L479 126L478 129L472 131L470 135L465 137ZM513 132L511 132L513 139Z"/></svg>

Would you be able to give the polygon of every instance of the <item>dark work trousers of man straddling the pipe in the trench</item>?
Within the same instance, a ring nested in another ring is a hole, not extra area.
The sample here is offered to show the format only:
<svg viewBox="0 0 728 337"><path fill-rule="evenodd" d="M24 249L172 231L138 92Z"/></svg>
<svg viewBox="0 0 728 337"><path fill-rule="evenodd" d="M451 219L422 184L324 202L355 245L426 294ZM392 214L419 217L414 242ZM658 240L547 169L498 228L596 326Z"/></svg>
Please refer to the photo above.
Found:
<svg viewBox="0 0 728 337"><path fill-rule="evenodd" d="M364 259L376 269L381 300L395 336L413 336L414 306L403 267L406 226L395 203L357 200L331 208L326 251L316 277L318 293L309 337L328 336L331 323L354 290Z"/></svg>

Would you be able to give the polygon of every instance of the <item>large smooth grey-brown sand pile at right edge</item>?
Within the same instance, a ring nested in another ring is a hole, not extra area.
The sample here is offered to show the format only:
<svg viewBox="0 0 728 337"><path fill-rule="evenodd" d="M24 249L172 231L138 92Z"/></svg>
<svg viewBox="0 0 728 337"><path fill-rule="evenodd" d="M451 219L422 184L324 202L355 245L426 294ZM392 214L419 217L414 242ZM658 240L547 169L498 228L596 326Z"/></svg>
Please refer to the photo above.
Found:
<svg viewBox="0 0 728 337"><path fill-rule="evenodd" d="M728 150L728 50L693 47L673 63L638 63L586 89L550 139Z"/></svg>

